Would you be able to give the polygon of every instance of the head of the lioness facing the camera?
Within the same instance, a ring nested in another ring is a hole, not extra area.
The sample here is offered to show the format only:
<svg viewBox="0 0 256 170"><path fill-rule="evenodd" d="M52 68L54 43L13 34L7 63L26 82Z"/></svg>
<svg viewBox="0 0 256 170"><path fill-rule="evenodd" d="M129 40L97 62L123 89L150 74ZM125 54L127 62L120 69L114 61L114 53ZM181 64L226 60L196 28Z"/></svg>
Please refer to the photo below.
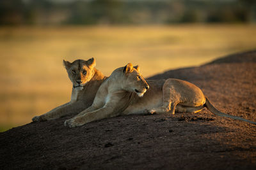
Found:
<svg viewBox="0 0 256 170"><path fill-rule="evenodd" d="M67 69L69 79L73 83L73 88L83 90L84 85L93 77L96 61L93 58L89 60L74 60L72 63L63 60L63 64Z"/></svg>

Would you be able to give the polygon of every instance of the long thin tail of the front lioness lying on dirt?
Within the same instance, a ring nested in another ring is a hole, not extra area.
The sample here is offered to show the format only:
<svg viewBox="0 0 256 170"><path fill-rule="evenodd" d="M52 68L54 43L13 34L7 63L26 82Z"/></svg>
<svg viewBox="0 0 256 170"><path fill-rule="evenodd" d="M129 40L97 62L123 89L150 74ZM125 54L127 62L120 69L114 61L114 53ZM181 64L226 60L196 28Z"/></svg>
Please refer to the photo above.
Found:
<svg viewBox="0 0 256 170"><path fill-rule="evenodd" d="M205 96L205 104L204 106L209 110L211 111L214 115L218 115L219 117L228 117L228 118L233 118L233 119L236 119L236 120L242 120L244 122L248 122L250 124L255 124L256 125L256 122L252 122L251 120L247 120L245 118L241 118L241 117L235 117L235 116L232 116L232 115L227 115L226 113L222 113L221 111L217 110L209 101L209 99Z"/></svg>

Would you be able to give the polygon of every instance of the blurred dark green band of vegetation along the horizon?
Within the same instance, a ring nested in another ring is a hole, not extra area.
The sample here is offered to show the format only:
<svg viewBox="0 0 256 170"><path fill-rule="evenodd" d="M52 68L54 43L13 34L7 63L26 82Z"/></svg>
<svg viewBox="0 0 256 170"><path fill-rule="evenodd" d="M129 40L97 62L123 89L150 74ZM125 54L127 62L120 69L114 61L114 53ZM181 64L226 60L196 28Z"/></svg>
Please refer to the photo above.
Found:
<svg viewBox="0 0 256 170"><path fill-rule="evenodd" d="M1 0L0 25L256 21L255 0Z"/></svg>

